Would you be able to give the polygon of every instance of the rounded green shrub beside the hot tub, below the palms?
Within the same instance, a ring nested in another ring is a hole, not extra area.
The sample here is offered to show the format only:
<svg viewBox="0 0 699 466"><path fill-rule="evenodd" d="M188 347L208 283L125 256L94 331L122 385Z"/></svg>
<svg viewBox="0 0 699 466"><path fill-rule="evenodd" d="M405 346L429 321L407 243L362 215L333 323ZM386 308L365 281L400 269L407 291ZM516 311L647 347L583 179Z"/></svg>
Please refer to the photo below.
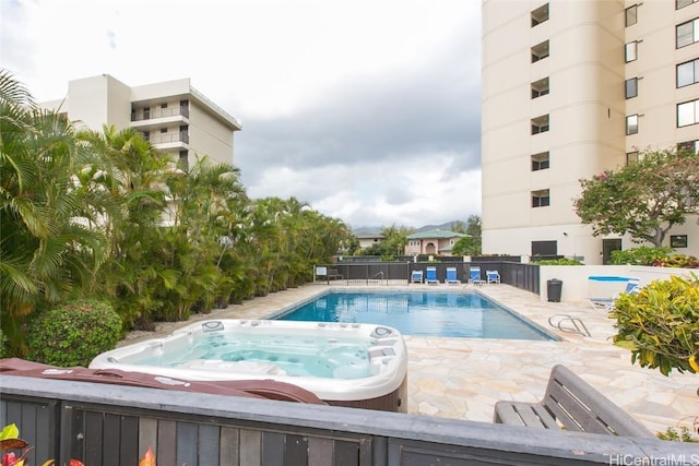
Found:
<svg viewBox="0 0 699 466"><path fill-rule="evenodd" d="M121 336L121 319L103 301L69 301L42 312L28 328L31 360L51 366L87 366L112 349Z"/></svg>

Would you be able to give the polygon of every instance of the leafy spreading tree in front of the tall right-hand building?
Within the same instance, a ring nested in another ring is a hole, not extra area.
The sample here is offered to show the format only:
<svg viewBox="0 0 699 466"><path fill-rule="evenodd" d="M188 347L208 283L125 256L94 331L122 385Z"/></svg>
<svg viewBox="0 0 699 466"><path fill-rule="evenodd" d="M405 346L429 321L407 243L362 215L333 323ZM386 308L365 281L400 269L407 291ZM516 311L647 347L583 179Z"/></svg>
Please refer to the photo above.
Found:
<svg viewBox="0 0 699 466"><path fill-rule="evenodd" d="M573 205L594 236L629 234L635 242L660 248L671 228L699 214L699 154L648 151L639 162L580 186Z"/></svg>

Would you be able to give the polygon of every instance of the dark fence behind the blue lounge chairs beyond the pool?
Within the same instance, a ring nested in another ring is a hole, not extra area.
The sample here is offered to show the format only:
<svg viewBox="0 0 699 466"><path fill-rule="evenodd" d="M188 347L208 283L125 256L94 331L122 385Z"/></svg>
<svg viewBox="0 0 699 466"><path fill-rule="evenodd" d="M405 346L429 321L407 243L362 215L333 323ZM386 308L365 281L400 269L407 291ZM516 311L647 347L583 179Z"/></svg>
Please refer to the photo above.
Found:
<svg viewBox="0 0 699 466"><path fill-rule="evenodd" d="M482 278L485 279L485 272L497 270L500 273L500 280L506 285L538 295L540 273L536 264L522 264L510 260L496 260L496 258L478 258L472 262L461 261L436 261L436 262L336 262L334 264L319 264L328 270L336 271L342 278L341 282L350 284L374 283L374 284L395 284L396 282L408 283L412 271L426 271L428 266L436 267L437 279L445 282L447 267L457 268L457 278L461 283L469 282L470 267L479 266Z"/></svg>

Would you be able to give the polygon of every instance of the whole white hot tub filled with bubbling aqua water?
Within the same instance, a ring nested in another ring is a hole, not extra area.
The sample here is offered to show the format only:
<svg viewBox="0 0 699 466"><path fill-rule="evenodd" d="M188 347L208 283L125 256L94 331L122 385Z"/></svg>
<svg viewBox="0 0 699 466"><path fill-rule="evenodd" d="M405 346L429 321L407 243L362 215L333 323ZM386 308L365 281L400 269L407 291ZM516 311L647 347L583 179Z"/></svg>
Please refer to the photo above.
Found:
<svg viewBox="0 0 699 466"><path fill-rule="evenodd" d="M406 411L407 350L392 327L211 320L103 353L91 369L190 380L276 380L331 405Z"/></svg>

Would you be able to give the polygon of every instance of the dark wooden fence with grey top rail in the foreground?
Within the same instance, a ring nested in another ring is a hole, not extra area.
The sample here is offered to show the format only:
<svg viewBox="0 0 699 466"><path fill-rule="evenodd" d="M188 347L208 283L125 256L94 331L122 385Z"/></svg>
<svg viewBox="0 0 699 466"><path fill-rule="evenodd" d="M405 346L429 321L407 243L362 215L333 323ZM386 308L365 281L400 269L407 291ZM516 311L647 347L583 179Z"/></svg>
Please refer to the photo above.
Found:
<svg viewBox="0 0 699 466"><path fill-rule="evenodd" d="M692 464L688 443L398 413L4 375L0 425L86 466ZM655 463L653 463L655 464ZM656 463L661 464L661 463ZM671 464L671 463L663 463ZM694 463L696 464L696 463Z"/></svg>

